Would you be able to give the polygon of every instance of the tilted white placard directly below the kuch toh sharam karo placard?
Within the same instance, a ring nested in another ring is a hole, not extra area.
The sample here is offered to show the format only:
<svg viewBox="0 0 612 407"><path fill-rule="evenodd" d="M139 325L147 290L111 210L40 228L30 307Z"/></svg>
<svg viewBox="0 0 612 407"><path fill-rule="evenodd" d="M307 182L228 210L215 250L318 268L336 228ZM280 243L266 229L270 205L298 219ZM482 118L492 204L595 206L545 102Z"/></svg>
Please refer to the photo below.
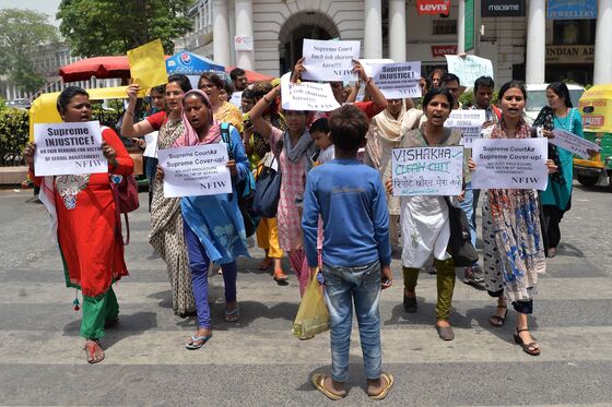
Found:
<svg viewBox="0 0 612 407"><path fill-rule="evenodd" d="M340 107L329 83L291 83L291 73L281 76L281 101L286 110L330 111Z"/></svg>

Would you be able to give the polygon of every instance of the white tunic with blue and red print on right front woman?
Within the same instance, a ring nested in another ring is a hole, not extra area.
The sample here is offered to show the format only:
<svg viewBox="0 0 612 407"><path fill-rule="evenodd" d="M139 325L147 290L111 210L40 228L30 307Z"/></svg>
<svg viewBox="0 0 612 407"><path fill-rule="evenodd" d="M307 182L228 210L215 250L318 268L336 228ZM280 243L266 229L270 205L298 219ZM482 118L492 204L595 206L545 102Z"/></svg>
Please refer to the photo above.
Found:
<svg viewBox="0 0 612 407"><path fill-rule="evenodd" d="M521 120L513 139L530 137ZM504 120L491 139L508 137ZM538 197L534 190L487 190L483 199L485 286L499 291L510 302L531 300L538 274L545 272L544 247Z"/></svg>

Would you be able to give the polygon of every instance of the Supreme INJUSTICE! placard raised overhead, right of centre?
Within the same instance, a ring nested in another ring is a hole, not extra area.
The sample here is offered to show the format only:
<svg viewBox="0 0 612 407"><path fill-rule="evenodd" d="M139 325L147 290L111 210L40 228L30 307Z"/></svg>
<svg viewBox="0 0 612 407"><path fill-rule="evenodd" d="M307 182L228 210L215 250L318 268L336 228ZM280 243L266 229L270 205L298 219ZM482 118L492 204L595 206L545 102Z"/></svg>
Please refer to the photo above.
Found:
<svg viewBox="0 0 612 407"><path fill-rule="evenodd" d="M421 62L374 64L372 79L387 99L421 97Z"/></svg>

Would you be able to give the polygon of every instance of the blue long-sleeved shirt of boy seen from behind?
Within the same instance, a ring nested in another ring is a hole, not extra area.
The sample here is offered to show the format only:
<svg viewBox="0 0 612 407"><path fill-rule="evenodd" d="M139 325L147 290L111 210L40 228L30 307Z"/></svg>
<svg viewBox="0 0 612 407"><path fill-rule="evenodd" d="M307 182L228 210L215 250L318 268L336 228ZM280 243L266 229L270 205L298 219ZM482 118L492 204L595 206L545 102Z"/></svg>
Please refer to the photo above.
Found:
<svg viewBox="0 0 612 407"><path fill-rule="evenodd" d="M377 170L357 159L334 159L308 172L302 227L308 265L317 265L318 219L323 219L323 263L391 263L389 213Z"/></svg>

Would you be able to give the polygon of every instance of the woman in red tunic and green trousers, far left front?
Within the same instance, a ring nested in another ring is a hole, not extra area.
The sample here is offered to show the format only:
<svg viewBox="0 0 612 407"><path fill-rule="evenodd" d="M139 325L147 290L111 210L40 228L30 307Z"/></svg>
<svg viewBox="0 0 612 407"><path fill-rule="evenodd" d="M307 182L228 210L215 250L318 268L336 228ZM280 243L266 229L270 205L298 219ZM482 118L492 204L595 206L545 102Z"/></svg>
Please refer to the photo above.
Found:
<svg viewBox="0 0 612 407"><path fill-rule="evenodd" d="M57 109L63 122L92 120L90 96L76 86L62 91L57 99ZM39 199L51 216L66 285L83 292L81 336L85 338L89 363L104 359L99 339L104 337L105 328L119 322L119 304L111 285L128 275L123 242L117 232L121 224L109 175L131 175L133 160L114 130L103 128L102 137L108 173L36 177L36 144L28 144L23 152L30 178L40 187Z"/></svg>

